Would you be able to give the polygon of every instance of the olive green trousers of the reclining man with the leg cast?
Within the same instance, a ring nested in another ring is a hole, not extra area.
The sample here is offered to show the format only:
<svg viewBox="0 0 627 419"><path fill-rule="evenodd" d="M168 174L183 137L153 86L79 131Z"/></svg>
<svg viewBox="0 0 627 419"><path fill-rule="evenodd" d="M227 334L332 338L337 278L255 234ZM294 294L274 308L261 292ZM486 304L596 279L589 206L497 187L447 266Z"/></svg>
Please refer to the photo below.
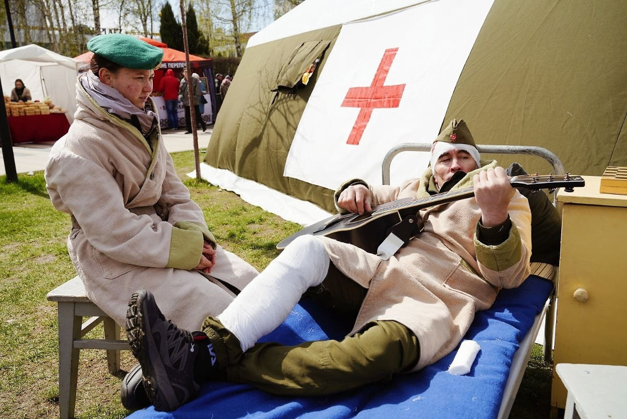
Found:
<svg viewBox="0 0 627 419"><path fill-rule="evenodd" d="M308 293L329 307L340 307L338 316L354 319L365 289L338 273L330 268L322 285ZM420 352L416 336L395 321L371 322L341 341L297 346L263 343L245 353L237 337L218 319L207 317L202 330L214 344L219 366L226 366L228 381L251 384L277 395L329 395L388 379L412 368Z"/></svg>

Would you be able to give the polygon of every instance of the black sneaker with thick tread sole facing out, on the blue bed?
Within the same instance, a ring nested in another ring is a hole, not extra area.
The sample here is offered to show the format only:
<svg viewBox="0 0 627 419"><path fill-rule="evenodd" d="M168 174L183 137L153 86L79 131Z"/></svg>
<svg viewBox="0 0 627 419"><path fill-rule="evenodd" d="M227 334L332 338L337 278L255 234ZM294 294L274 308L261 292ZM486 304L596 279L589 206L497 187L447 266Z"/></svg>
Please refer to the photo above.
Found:
<svg viewBox="0 0 627 419"><path fill-rule="evenodd" d="M130 297L126 319L130 349L142 366L155 410L172 411L195 398L201 383L194 380L194 361L210 342L206 334L194 336L166 320L145 290Z"/></svg>

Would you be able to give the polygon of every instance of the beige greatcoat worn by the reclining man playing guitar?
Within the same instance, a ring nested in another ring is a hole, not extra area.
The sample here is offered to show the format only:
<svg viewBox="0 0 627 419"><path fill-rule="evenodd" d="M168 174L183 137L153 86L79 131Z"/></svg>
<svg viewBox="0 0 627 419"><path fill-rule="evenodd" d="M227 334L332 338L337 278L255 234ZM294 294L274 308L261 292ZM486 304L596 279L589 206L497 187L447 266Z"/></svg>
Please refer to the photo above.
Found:
<svg viewBox="0 0 627 419"><path fill-rule="evenodd" d="M473 174L495 165L492 161L468 173L451 190L472 186ZM430 179L428 169L423 178L401 186L371 186L372 205L428 196ZM336 202L352 183L340 186ZM322 237L335 266L368 289L350 334L371 321L404 324L420 344L420 359L413 370L450 353L468 331L475 312L490 307L499 289L517 287L529 276L531 213L527 198L515 191L508 213L510 235L498 246L483 245L476 238L481 213L475 198L421 210L423 233L389 260Z"/></svg>

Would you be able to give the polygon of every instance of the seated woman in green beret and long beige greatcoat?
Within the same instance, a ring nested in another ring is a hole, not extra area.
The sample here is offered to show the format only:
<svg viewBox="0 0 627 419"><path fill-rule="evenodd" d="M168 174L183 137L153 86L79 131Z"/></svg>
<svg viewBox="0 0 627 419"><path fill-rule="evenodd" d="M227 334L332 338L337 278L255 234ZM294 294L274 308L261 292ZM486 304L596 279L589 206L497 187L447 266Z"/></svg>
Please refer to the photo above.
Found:
<svg viewBox="0 0 627 419"><path fill-rule="evenodd" d="M163 50L125 34L94 36L87 48L75 120L45 170L51 203L71 216L71 261L87 296L117 324L128 294L144 287L168 318L196 327L257 271L218 245L176 174L150 98ZM145 407L143 390L138 364L122 382L122 404Z"/></svg>

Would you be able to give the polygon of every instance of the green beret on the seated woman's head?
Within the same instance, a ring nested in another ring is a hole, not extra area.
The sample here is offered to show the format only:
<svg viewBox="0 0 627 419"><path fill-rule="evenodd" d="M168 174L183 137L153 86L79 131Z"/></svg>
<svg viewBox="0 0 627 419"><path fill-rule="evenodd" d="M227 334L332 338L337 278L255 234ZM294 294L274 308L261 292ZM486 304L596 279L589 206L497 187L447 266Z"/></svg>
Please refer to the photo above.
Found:
<svg viewBox="0 0 627 419"><path fill-rule="evenodd" d="M94 36L87 49L123 67L135 70L153 70L163 58L163 50L135 36L110 33Z"/></svg>

